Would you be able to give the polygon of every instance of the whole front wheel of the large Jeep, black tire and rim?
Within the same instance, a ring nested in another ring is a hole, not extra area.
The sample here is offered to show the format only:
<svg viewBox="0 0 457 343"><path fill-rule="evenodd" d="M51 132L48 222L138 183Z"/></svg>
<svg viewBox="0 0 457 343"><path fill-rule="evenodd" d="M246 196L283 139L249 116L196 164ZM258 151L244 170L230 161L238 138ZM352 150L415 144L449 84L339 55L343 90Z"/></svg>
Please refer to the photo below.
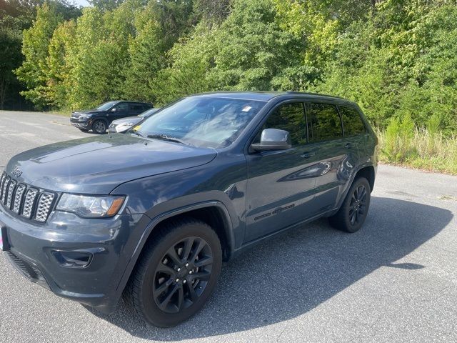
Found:
<svg viewBox="0 0 457 343"><path fill-rule="evenodd" d="M169 222L153 234L124 295L146 323L174 327L198 312L214 291L221 243L208 224L191 218Z"/></svg>

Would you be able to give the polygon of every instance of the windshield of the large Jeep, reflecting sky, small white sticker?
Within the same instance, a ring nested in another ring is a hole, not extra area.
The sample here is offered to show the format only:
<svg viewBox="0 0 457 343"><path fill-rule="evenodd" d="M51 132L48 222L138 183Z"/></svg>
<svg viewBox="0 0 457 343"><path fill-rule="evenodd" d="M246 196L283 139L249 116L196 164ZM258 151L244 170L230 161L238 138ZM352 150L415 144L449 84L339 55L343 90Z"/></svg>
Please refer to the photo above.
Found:
<svg viewBox="0 0 457 343"><path fill-rule="evenodd" d="M222 148L231 144L265 105L265 101L189 96L150 116L134 131L164 135L194 146Z"/></svg>

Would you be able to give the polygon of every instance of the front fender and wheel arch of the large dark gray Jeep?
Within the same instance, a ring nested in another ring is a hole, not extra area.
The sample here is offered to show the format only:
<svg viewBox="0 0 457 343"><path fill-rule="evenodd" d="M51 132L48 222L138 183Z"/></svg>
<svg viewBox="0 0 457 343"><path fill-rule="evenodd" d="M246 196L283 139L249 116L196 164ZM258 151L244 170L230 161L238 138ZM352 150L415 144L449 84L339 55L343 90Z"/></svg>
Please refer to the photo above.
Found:
<svg viewBox="0 0 457 343"><path fill-rule="evenodd" d="M247 169L244 156L236 157L216 158L202 166L132 180L111 192L127 195L121 213L141 213L151 219L146 229L131 232L136 247L125 252L131 258L117 287L119 297L147 239L167 218L194 209L217 207L226 221L224 229L227 230L229 252L241 246L245 229Z"/></svg>

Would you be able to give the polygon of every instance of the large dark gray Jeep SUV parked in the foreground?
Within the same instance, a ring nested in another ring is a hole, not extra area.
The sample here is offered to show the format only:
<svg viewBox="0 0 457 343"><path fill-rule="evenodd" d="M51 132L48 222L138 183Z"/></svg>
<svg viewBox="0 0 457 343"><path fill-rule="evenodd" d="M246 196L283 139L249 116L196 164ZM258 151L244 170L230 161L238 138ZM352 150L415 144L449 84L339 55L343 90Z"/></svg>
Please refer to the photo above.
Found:
<svg viewBox="0 0 457 343"><path fill-rule="evenodd" d="M0 179L1 249L32 282L146 322L195 314L221 263L261 239L328 217L361 228L377 139L333 96L189 96L127 134L25 151ZM253 269L255 272L255 269Z"/></svg>

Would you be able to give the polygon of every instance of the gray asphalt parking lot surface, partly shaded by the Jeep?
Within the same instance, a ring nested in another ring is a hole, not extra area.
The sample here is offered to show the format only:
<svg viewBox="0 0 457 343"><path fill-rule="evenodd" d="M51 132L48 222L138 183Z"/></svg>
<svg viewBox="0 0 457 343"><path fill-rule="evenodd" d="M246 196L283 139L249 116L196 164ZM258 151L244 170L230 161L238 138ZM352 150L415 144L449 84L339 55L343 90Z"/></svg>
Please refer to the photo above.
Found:
<svg viewBox="0 0 457 343"><path fill-rule="evenodd" d="M64 116L0 111L0 170L88 135ZM56 297L0 256L0 342L457 342L456 214L457 177L381 165L360 232L320 220L258 245L172 329Z"/></svg>

